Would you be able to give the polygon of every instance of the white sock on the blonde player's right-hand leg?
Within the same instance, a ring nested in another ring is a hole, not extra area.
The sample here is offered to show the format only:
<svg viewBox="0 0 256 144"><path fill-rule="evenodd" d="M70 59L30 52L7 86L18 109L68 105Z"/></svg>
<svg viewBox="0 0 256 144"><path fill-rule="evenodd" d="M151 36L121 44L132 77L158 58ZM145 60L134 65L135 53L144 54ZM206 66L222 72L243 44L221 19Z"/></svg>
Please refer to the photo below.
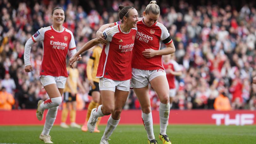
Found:
<svg viewBox="0 0 256 144"><path fill-rule="evenodd" d="M162 104L159 106L159 117L160 117L160 134L166 135L166 128L168 125L168 119L170 114L170 103Z"/></svg>

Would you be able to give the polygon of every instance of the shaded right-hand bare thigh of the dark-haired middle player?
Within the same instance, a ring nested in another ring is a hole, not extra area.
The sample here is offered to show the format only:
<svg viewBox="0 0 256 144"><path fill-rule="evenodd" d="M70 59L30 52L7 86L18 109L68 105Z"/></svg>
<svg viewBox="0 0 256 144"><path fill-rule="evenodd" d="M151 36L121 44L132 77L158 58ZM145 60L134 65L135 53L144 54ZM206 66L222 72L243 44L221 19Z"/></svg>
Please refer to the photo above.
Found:
<svg viewBox="0 0 256 144"><path fill-rule="evenodd" d="M129 92L116 89L115 92L115 109L122 110L127 100Z"/></svg>

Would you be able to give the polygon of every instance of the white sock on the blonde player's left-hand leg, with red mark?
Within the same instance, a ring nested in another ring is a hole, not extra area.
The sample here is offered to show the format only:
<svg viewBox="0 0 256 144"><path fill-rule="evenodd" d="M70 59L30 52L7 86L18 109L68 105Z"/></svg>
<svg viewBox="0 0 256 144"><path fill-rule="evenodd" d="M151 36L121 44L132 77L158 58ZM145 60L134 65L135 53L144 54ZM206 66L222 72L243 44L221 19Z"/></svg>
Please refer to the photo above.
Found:
<svg viewBox="0 0 256 144"><path fill-rule="evenodd" d="M143 120L143 124L144 127L147 131L147 135L148 135L148 139L151 141L153 139L155 139L155 135L154 135L154 130L153 130L153 118L152 118L152 113L143 113L141 114L142 120Z"/></svg>

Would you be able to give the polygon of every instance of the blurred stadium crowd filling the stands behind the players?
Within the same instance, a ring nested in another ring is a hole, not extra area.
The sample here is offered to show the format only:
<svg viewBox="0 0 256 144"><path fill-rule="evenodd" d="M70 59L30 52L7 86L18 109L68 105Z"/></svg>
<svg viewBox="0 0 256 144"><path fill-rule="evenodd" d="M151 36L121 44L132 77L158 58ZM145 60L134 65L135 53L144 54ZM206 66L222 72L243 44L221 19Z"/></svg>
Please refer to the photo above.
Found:
<svg viewBox="0 0 256 144"><path fill-rule="evenodd" d="M255 3L200 2L195 5L183 0L157 1L161 9L158 21L169 30L176 47L175 60L182 67L182 75L176 77L172 109L255 110ZM54 7L65 10L63 26L73 32L78 50L96 37L101 25L119 21L119 4L133 5L142 16L148 3L0 0L0 109L35 109L39 99L48 98L40 83L41 42L32 46L33 72L25 73L23 54L27 39L41 27L51 25ZM83 53L77 66L87 92L86 63L90 51ZM158 109L160 102L153 89L149 95L152 109ZM81 91L77 97L79 109L84 109L91 99ZM140 108L132 90L124 108Z"/></svg>

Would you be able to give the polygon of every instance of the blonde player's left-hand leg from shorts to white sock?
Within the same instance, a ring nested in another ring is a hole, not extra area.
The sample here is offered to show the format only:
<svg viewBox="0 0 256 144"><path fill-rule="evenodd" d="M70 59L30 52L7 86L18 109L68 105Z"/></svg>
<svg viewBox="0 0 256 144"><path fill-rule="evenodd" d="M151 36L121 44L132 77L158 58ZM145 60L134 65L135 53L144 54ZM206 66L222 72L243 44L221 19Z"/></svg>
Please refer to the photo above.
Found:
<svg viewBox="0 0 256 144"><path fill-rule="evenodd" d="M140 102L142 110L142 119L145 129L147 131L149 141L155 140L153 130L153 118L151 113L150 99L149 99L149 86L142 88L133 88L137 99Z"/></svg>

